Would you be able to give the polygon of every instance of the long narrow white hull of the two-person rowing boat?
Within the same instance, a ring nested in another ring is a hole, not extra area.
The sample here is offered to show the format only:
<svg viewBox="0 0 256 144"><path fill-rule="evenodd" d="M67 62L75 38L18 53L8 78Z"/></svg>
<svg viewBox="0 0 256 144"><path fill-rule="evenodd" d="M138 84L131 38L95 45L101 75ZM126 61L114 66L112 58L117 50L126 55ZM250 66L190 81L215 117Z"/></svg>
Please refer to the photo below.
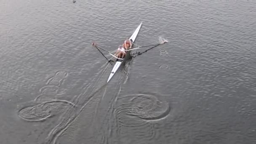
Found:
<svg viewBox="0 0 256 144"><path fill-rule="evenodd" d="M137 27L137 29L133 32L133 34L132 34L131 37L129 38L129 40L131 40L131 42L132 42L131 47L133 46L133 43L134 43L134 41L136 40L136 37L137 37L137 35L138 35L138 33L139 33L139 30L140 30L140 28L141 28L141 25L142 25L142 22L141 22L141 24L139 24L139 26ZM135 48L134 48L134 49L135 49ZM130 52L130 51L125 51L125 53L128 53L128 52ZM127 57L127 56L128 56L128 54L126 54L125 57ZM109 80L111 80L111 78L115 75L115 72L117 72L117 69L120 67L120 65L123 63L123 61L124 61L124 59L117 59L117 61L116 61L116 63L115 63L115 66L113 67L113 69L112 69L112 71L111 71L111 73L110 73L110 75L109 75L109 78L108 78L108 80L107 80L107 83L108 83Z"/></svg>

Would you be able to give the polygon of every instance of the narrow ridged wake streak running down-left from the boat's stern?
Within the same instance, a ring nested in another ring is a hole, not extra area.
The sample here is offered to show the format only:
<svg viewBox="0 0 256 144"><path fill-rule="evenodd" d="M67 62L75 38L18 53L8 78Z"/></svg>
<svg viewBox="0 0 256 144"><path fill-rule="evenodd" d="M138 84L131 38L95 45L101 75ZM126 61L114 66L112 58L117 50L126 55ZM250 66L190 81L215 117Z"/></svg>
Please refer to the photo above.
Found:
<svg viewBox="0 0 256 144"><path fill-rule="evenodd" d="M45 140L45 144L59 143L59 137L62 135L65 135L67 136L67 138L70 138L69 140L74 139L73 134L69 135L70 133L72 133L70 131L73 131L73 129L69 129L70 126L72 128L74 126L78 126L78 128L80 128L81 125L83 125L83 128L86 129L89 128L90 125L92 125L95 119L95 109L99 107L99 103L102 97L104 96L99 94L99 92L104 90L104 88L106 89L107 86L107 83L102 83L102 76L106 74L108 66L108 63L104 64L102 66L103 69L101 69L99 72L95 74L95 77L93 77L92 81L84 85L83 92L80 93L80 95L75 96L73 103L77 107L75 109L66 109L63 115L61 115L61 117L59 118L58 124L50 131L50 133L48 133L48 137ZM81 117L83 117L84 120L88 120L88 122L84 123L83 120L80 120ZM79 123L79 125L76 125L75 123L77 120L81 122ZM64 133L65 131L69 131L69 133Z"/></svg>

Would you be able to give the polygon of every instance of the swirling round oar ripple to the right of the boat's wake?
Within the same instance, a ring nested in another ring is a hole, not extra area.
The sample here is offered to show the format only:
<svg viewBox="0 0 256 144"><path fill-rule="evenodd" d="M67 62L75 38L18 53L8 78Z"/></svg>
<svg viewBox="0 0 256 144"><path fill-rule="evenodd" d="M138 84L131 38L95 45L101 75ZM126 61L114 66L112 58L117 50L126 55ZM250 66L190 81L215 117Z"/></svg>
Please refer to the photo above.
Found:
<svg viewBox="0 0 256 144"><path fill-rule="evenodd" d="M127 99L128 98L128 99ZM117 135L122 140L138 142L159 136L152 120L160 120L168 115L169 105L152 95L136 95L121 98L115 109ZM131 138L134 139L126 139Z"/></svg>

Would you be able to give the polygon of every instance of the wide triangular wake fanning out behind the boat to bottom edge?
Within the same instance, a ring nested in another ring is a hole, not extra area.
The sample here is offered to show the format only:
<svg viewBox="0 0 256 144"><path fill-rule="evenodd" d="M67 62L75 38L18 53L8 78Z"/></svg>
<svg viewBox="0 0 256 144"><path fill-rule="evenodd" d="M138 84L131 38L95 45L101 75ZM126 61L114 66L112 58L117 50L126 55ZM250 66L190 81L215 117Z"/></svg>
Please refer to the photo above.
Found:
<svg viewBox="0 0 256 144"><path fill-rule="evenodd" d="M108 71L101 72L98 77L107 74L107 72ZM80 110L78 110L79 112L74 115L72 121L68 122L68 126L62 128L63 132L59 133L59 136L52 138L53 144L112 143L111 138L113 137L113 128L111 123L114 121L114 101L120 96L120 91L123 85L123 76L119 76L120 77L116 77L117 82L115 82L115 85L108 87L105 82L104 85L99 86L99 88L91 94L91 99L80 98L80 101L84 101L83 107L81 107ZM96 82L95 85L99 85L99 83ZM91 86L91 88L94 87ZM89 94L88 91L85 93ZM82 97L85 97L85 94ZM84 133L86 133L86 135Z"/></svg>

